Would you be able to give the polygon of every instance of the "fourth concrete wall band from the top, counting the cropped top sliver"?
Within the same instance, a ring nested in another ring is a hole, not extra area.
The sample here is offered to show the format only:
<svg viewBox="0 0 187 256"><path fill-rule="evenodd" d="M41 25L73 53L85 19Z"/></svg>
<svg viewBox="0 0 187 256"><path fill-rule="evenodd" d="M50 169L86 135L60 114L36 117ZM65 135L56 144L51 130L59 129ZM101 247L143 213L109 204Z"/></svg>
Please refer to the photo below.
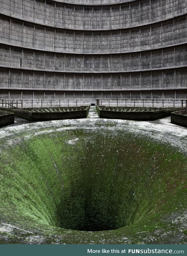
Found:
<svg viewBox="0 0 187 256"><path fill-rule="evenodd" d="M0 44L0 67L55 72L121 73L187 66L187 44L116 54L69 54Z"/></svg>

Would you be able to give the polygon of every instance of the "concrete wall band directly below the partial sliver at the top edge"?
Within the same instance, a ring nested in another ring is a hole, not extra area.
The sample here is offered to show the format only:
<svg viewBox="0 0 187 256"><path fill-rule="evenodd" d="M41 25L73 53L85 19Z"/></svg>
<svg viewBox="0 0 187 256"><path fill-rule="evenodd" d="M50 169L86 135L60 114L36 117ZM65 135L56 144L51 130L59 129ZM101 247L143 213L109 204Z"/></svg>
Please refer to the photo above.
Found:
<svg viewBox="0 0 187 256"><path fill-rule="evenodd" d="M86 6L44 0L1 0L1 12L21 20L78 30L111 30L142 26L187 12L185 0L138 0Z"/></svg>

